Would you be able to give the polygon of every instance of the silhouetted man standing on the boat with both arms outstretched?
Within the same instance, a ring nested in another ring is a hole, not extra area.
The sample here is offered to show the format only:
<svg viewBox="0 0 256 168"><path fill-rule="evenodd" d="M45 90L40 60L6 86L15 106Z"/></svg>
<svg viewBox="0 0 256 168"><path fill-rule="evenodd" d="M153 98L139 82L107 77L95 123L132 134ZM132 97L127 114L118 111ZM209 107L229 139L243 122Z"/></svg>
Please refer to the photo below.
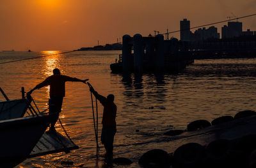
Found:
<svg viewBox="0 0 256 168"><path fill-rule="evenodd" d="M61 75L59 69L53 69L53 75L46 78L42 83L36 85L35 88L31 89L27 94L30 95L34 90L50 85L50 99L49 99L49 113L60 113L61 106L63 102L63 97L65 97L65 82L66 81L81 81L86 83L86 80L79 80L77 78L71 78L69 76ZM52 106L52 104L54 106ZM55 132L54 125L58 120L51 122L51 127L49 131Z"/></svg>

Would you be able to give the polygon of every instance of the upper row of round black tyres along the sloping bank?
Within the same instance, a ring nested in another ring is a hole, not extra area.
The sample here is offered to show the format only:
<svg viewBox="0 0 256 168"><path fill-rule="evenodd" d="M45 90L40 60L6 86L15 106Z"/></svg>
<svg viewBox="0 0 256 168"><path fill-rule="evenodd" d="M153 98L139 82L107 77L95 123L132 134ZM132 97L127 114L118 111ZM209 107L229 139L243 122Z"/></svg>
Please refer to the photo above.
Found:
<svg viewBox="0 0 256 168"><path fill-rule="evenodd" d="M179 134L182 134L183 132L186 131L195 131L195 130L200 130L204 129L206 127L211 127L212 125L218 125L221 123L226 123L230 122L232 120L236 120L238 118L243 118L246 116L253 116L256 115L255 111L252 110L244 110L244 111L239 111L234 117L233 116L220 116L218 118L215 118L212 120L212 122L208 122L207 120L195 120L191 123L188 124L186 130L169 130L168 132L164 132L165 136L178 136Z"/></svg>

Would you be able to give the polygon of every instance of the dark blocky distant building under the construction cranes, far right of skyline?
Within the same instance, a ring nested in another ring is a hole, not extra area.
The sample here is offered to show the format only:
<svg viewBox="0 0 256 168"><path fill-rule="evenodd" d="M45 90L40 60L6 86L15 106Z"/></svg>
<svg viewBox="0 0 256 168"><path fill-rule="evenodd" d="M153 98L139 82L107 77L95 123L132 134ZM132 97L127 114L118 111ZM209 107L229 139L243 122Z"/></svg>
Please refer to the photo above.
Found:
<svg viewBox="0 0 256 168"><path fill-rule="evenodd" d="M221 27L221 38L234 38L242 36L242 22L228 22L228 26Z"/></svg>

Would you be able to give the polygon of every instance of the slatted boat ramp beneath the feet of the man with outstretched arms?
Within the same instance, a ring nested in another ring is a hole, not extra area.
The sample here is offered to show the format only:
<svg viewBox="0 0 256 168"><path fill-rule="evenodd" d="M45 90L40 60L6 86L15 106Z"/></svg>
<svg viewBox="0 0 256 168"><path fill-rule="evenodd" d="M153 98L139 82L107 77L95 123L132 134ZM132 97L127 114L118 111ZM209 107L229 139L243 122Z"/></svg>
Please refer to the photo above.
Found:
<svg viewBox="0 0 256 168"><path fill-rule="evenodd" d="M79 147L72 143L70 139L62 136L58 132L45 132L31 151L28 158L39 157L51 153L58 153L61 151L68 153L70 150L76 150L78 148Z"/></svg>

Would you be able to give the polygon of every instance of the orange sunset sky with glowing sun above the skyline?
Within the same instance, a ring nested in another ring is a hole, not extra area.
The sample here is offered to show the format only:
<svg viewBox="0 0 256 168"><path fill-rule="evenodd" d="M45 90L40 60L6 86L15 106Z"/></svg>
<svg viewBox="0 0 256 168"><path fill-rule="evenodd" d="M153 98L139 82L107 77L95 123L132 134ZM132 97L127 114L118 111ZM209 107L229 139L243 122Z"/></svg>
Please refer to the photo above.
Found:
<svg viewBox="0 0 256 168"><path fill-rule="evenodd" d="M74 50L256 13L255 0L1 0L0 50ZM256 16L239 20L256 31ZM218 32L221 26L216 25ZM195 30L193 30L195 31ZM179 38L179 33L171 34Z"/></svg>

